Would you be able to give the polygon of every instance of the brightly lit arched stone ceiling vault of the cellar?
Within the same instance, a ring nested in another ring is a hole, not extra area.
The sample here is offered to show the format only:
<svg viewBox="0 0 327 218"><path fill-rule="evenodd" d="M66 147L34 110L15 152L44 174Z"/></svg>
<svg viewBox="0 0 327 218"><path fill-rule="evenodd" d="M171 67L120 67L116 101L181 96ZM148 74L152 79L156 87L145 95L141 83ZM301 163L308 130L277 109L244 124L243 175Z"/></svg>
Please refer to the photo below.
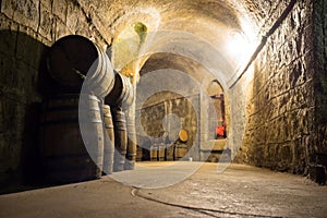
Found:
<svg viewBox="0 0 327 218"><path fill-rule="evenodd" d="M216 68L214 71L219 72L217 75L221 84L227 86L234 77L238 69L246 62L257 45L258 37L258 23L264 16L264 7L271 7L272 1L251 1L251 0L100 0L89 1L89 4L94 4L97 8L105 25L111 31L114 43L125 44L131 47L132 44L137 44L137 40L126 39L132 37L123 37L122 33L126 33L126 29L132 29L131 26L135 22L142 22L147 27L147 43L142 46L132 46L129 51L113 52L113 66L118 70L122 69L124 64L135 60L135 53L140 53L143 49L145 56L142 61L134 63L134 70L140 70L146 60L156 52L162 52L161 48L169 47L169 44L174 40L173 34L167 34L162 36L162 32L184 32L191 34L192 37L197 37L203 41L206 41L207 46L213 47L211 50L217 50L217 53L204 55L207 48L196 48L190 52L199 53L198 59L195 62L202 63L203 59L210 57L211 62L216 62L216 65L206 66L209 71ZM156 34L154 34L156 33ZM156 37L160 35L160 40L156 40ZM129 35L129 34L126 34ZM149 37L152 36L152 37ZM135 36L136 37L136 36ZM166 40L162 38L166 37ZM124 40L122 40L122 38ZM179 40L179 39L178 39ZM233 41L239 40L239 41ZM241 41L240 41L241 40ZM136 41L136 43L135 43ZM140 41L138 41L140 43ZM240 46L249 47L241 48ZM184 44L187 49L192 48L192 43ZM235 46L235 47L232 47ZM143 48L142 48L143 47ZM144 49L146 47L146 50ZM229 48L230 47L230 48ZM131 50L137 50L131 51ZM202 50L196 50L202 49ZM119 50L119 49L117 49ZM123 50L123 49L121 49ZM208 49L210 50L210 49ZM165 51L165 49L164 49ZM168 51L169 52L169 51ZM174 51L172 52L174 53ZM144 53L143 53L144 55ZM180 55L180 53L174 53ZM240 59L240 57L242 59ZM217 61L215 60L217 58ZM162 61L167 60L167 57ZM222 63L222 61L225 63ZM135 61L134 61L135 62ZM191 61L191 62L194 62ZM114 65L116 64L116 65ZM135 66L135 64L137 66ZM194 66L198 68L198 64L190 63L185 61L184 70ZM180 64L179 64L180 65ZM183 66L181 66L183 68ZM217 69L218 68L218 69ZM220 69L219 69L220 68ZM220 78L221 77L221 78Z"/></svg>

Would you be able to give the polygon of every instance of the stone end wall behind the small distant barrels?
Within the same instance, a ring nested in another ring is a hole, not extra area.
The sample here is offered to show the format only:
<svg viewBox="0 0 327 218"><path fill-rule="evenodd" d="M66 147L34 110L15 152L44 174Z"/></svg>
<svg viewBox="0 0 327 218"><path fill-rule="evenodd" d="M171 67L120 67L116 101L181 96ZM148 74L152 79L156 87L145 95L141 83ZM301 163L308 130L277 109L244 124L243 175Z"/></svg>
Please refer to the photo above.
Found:
<svg viewBox="0 0 327 218"><path fill-rule="evenodd" d="M177 96L172 93L168 96L158 93L153 98L161 99L161 101L145 104L144 107L137 109L136 113L140 113L142 126L136 126L136 132L142 129L146 136L153 138L154 144L165 142L168 145L175 143L179 138L179 131L184 129L189 133L189 140L184 144L191 150L190 156L194 160L199 160L199 123L197 119L199 96ZM152 99L149 99L150 101Z"/></svg>

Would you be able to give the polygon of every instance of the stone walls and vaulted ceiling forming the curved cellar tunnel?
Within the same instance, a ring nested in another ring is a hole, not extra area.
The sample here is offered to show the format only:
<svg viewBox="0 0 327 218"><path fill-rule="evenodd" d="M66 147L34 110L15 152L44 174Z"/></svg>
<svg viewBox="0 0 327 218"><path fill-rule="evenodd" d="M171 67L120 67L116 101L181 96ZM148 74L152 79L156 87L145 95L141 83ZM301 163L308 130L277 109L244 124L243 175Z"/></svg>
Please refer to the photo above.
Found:
<svg viewBox="0 0 327 218"><path fill-rule="evenodd" d="M182 119L190 120L186 128L194 134L194 160L205 160L204 144L216 146L207 108L213 95L223 94L226 146L233 161L326 180L326 1L0 3L0 184L25 181L26 174L35 182L40 104L56 88L45 83L45 57L68 35L94 41L107 51L114 70L132 78L136 111L143 109L137 99L148 100L152 111L161 102L179 104L180 96L191 102L196 122L189 110ZM143 82L150 76L152 83ZM213 81L219 92L210 90ZM142 93L147 88L155 97ZM169 114L166 105L160 119ZM148 120L143 129L150 129ZM152 134L159 137L156 131Z"/></svg>

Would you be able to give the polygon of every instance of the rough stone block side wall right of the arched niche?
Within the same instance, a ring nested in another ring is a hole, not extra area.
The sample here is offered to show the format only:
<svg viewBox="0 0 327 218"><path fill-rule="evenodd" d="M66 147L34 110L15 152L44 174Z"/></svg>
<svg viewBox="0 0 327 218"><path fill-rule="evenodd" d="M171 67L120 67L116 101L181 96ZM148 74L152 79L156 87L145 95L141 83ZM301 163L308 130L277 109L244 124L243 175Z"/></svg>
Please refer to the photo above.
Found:
<svg viewBox="0 0 327 218"><path fill-rule="evenodd" d="M268 17L266 23L272 24L288 12L252 65L252 90L239 157L261 167L305 173L316 132L313 2L296 1L294 7L287 7L279 3L274 11L277 15ZM263 26L263 35L268 27Z"/></svg>

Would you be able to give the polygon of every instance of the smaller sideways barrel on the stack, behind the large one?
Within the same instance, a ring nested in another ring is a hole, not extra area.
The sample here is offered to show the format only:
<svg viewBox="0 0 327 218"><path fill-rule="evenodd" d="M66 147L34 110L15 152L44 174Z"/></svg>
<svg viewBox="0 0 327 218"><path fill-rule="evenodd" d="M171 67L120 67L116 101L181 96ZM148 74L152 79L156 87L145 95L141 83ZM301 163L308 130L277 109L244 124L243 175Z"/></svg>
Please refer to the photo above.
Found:
<svg viewBox="0 0 327 218"><path fill-rule="evenodd" d="M132 105L134 99L133 85L129 77L116 73L114 85L111 92L105 97L105 104L110 107L123 105L124 108Z"/></svg>

